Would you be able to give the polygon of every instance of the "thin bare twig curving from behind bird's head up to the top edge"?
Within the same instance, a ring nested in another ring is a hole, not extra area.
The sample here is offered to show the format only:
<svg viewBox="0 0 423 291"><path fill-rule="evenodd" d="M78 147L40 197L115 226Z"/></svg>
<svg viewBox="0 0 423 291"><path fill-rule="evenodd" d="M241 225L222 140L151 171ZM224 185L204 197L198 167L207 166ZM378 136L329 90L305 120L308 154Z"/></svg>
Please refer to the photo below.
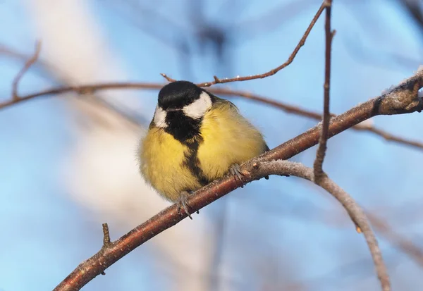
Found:
<svg viewBox="0 0 423 291"><path fill-rule="evenodd" d="M210 87L215 84L221 84L221 83L228 83L228 82L239 82L239 81L247 81L247 80L255 80L255 79L262 79L269 77L271 75L275 75L278 73L278 71L282 70L283 68L287 67L294 61L295 56L297 56L298 51L300 51L301 47L305 44L305 41L307 37L309 36L309 33L312 31L312 28L316 24L317 20L319 19L321 13L324 11L324 8L328 6L327 1L323 1L321 6L319 7L319 10L317 11L316 15L314 15L314 18L312 19L312 22L307 27L307 30L305 30L304 35L302 35L300 42L298 42L297 46L293 50L293 52L290 54L288 60L283 63L281 66L278 66L277 68L274 68L272 70L269 70L269 72L258 74L258 75L252 75L252 76L245 76L245 77L235 77L230 79L220 79L216 76L213 76L214 81L212 82L202 82L200 84L197 84L200 87Z"/></svg>

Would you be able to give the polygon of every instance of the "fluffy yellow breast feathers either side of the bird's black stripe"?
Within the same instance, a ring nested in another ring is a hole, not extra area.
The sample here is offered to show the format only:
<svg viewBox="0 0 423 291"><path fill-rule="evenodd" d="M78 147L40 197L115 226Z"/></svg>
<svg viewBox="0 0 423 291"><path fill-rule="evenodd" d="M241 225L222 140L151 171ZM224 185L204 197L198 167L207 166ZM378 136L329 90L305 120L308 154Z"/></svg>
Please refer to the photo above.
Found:
<svg viewBox="0 0 423 291"><path fill-rule="evenodd" d="M229 102L214 105L204 115L197 141L200 175L210 182L223 177L234 163L252 159L267 148L262 134ZM192 148L162 128L151 127L141 143L140 171L157 192L176 202L180 192L202 187L187 163L190 154Z"/></svg>

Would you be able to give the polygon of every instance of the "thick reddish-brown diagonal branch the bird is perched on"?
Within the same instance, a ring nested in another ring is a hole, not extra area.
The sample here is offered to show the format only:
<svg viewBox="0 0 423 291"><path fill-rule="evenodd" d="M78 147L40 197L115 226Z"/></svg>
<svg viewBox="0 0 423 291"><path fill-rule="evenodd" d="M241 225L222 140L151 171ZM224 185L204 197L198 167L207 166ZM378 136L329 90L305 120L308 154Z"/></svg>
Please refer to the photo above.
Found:
<svg viewBox="0 0 423 291"><path fill-rule="evenodd" d="M329 124L329 137L333 137L333 135L337 135L338 133L351 128L353 125L357 125L364 120L372 118L373 116L422 111L423 100L418 98L416 94L416 89L420 89L422 87L423 71L419 70L416 75L400 83L400 85L393 88L391 92L388 92L380 97L370 99L369 101L355 106L353 109L350 109L335 118L331 118L331 122ZM224 178L210 183L190 195L188 198L190 208L192 211L200 210L204 206L214 202L216 199L228 194L228 192L243 186L247 182L252 182L252 180L258 179L259 175L248 176L248 174L254 173L254 171L259 168L260 163L273 161L275 159L290 159L292 156L295 156L296 154L316 145L319 141L319 133L320 128L319 126L316 126L301 135L298 135L298 137L295 137L288 142L284 142L275 149L271 149L265 154L243 163L240 166L241 173L245 175L243 181L233 179L232 176L225 176ZM80 288L90 282L90 280L104 272L106 268L109 268L109 266L131 252L133 249L139 247L141 244L147 242L147 240L158 235L167 228L171 228L173 225L176 225L176 223L179 223L186 217L187 215L185 212L179 213L178 206L176 204L169 206L145 223L138 225L126 235L123 235L120 239L115 242L111 242L109 247L101 249L90 259L82 262L80 266L75 268L75 270L54 289L54 291L80 290ZM358 223L362 223L362 221L358 221ZM363 231L365 230L367 232L369 230L365 228L364 225L360 224L360 227L363 228ZM368 243L370 244L372 242L368 241ZM377 256L374 257L374 261L378 260ZM384 278L384 276L381 277Z"/></svg>

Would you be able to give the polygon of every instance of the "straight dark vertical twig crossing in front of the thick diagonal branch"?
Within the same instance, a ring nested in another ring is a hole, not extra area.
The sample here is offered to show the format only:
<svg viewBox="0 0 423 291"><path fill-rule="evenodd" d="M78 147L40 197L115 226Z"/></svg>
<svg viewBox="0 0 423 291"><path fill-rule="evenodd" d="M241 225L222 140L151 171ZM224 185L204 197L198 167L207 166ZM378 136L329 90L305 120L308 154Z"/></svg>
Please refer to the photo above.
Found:
<svg viewBox="0 0 423 291"><path fill-rule="evenodd" d="M316 159L314 160L314 182L319 182L324 177L323 161L326 155L329 120L331 120L331 112L329 111L330 90L331 90L331 52L332 38L335 32L331 31L331 6L332 0L326 0L326 23L324 25L326 37L325 49L325 66L324 66L324 104L323 104L323 120L321 121L321 133L319 139L319 147L317 148Z"/></svg>

